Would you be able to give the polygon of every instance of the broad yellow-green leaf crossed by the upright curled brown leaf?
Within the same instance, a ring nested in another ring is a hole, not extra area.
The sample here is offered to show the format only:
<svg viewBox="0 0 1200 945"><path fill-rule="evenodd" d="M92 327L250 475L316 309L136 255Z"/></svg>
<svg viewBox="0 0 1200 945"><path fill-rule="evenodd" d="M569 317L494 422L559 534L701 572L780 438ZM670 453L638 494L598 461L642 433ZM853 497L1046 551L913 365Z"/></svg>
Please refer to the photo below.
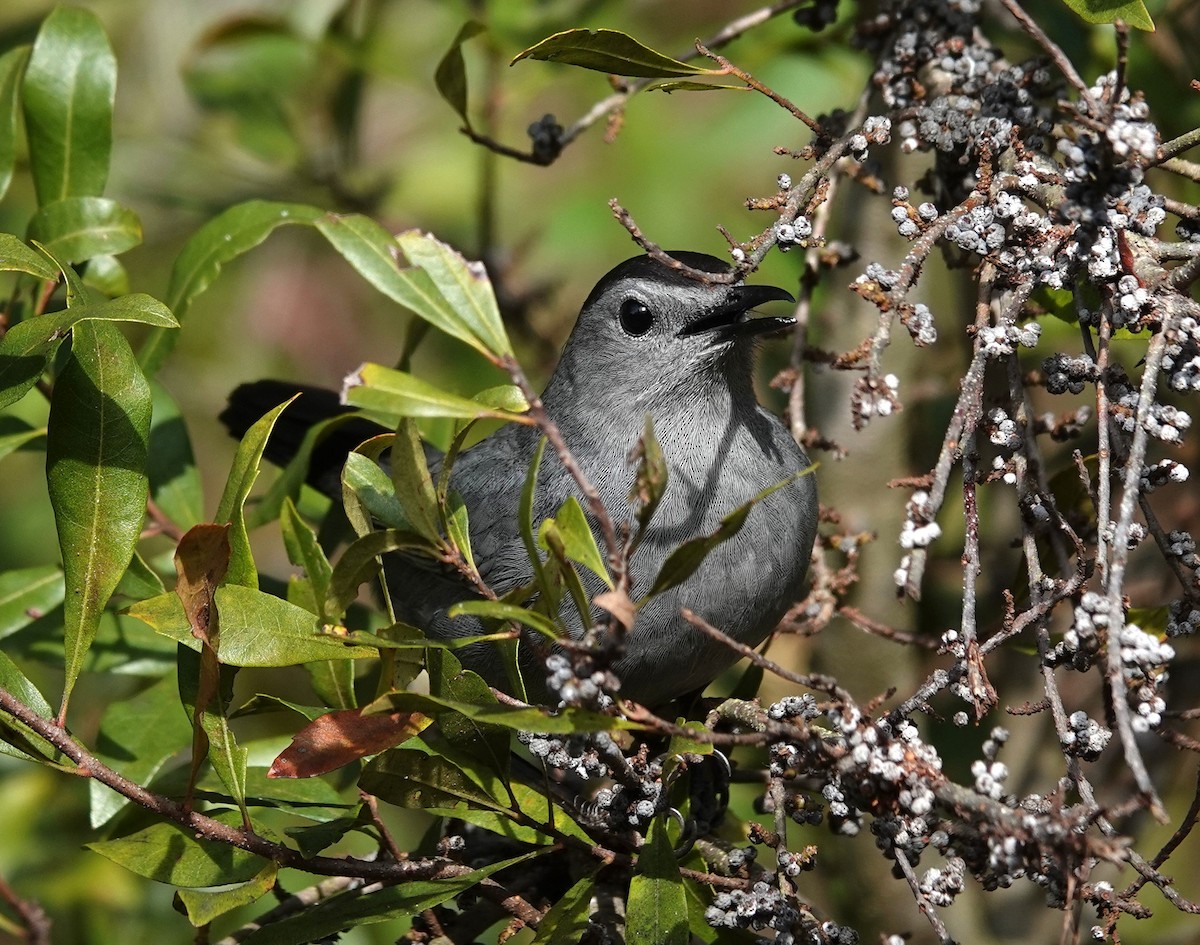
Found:
<svg viewBox="0 0 1200 945"><path fill-rule="evenodd" d="M224 584L217 588L216 603L221 613L221 662L227 666L296 666L378 656L373 648L348 646L320 633L322 625L313 614L254 588ZM157 633L200 649L174 591L139 601L128 613Z"/></svg>

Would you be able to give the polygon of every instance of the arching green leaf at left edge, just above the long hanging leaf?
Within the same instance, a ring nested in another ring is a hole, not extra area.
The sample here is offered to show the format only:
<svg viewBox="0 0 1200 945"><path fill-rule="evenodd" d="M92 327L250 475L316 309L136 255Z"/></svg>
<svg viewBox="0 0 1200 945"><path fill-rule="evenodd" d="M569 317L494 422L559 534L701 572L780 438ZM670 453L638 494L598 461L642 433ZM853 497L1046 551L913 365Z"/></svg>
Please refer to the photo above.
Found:
<svg viewBox="0 0 1200 945"><path fill-rule="evenodd" d="M91 321L140 321L178 327L162 302L142 294L25 319L0 338L0 407L24 397L42 377L50 355L71 329Z"/></svg>

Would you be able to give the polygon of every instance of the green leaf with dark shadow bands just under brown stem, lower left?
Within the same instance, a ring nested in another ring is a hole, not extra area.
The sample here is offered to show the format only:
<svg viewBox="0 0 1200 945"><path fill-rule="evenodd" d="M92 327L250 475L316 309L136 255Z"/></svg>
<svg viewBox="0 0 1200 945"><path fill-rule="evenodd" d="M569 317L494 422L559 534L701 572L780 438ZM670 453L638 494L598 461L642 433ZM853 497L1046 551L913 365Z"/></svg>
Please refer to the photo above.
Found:
<svg viewBox="0 0 1200 945"><path fill-rule="evenodd" d="M232 811L222 812L216 819L241 824L240 814ZM185 887L246 883L262 873L268 862L228 843L200 839L194 830L167 821L86 847L139 877Z"/></svg>

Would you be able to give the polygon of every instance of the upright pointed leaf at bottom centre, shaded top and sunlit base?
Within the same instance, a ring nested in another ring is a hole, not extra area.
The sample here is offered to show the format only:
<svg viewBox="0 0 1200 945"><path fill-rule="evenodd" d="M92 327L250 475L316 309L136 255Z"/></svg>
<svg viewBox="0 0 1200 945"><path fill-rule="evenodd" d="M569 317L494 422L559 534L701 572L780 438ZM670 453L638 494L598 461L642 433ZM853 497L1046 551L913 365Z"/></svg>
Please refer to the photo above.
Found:
<svg viewBox="0 0 1200 945"><path fill-rule="evenodd" d="M650 821L650 836L637 856L625 913L629 945L688 945L688 896L679 875L666 817Z"/></svg>

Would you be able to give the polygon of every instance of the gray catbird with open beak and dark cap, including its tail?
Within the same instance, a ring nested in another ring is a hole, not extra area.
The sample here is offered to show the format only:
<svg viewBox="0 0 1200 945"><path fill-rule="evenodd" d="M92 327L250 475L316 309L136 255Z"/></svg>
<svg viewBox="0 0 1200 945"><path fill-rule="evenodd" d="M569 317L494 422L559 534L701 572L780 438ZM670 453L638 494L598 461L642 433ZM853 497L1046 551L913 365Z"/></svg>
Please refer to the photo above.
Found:
<svg viewBox="0 0 1200 945"><path fill-rule="evenodd" d="M702 253L671 255L692 269L728 270ZM618 523L632 519L629 494L635 470L628 456L646 416L653 417L668 481L630 560L635 600L682 542L713 532L722 516L808 467L784 425L760 407L751 384L755 338L790 324L781 318L749 318L754 306L772 300L791 295L769 285L701 283L642 255L608 272L583 303L542 402ZM301 397L283 411L268 444L268 458L286 462L308 426L344 409L335 395L258 381L235 390L221 419L240 437L296 390ZM341 439L326 440L313 456L310 481L337 494L346 453L378 432L368 421L343 427ZM532 577L517 510L539 438L536 428L508 425L463 452L451 471L451 484L468 507L479 570L498 594ZM547 451L534 522L553 516L572 494L578 495L575 481ZM734 662L730 648L684 620L682 608L744 644L761 643L799 596L816 523L811 475L756 505L742 530L719 544L690 578L638 610L624 655L612 667L622 696L661 704L703 687ZM460 578L395 556L388 576L401 619L443 639L481 632L474 619L445 615L451 603L473 596ZM598 580L588 588L600 589ZM572 636L582 636L584 628L569 601L562 613ZM468 669L506 687L492 644L473 644L458 656Z"/></svg>

